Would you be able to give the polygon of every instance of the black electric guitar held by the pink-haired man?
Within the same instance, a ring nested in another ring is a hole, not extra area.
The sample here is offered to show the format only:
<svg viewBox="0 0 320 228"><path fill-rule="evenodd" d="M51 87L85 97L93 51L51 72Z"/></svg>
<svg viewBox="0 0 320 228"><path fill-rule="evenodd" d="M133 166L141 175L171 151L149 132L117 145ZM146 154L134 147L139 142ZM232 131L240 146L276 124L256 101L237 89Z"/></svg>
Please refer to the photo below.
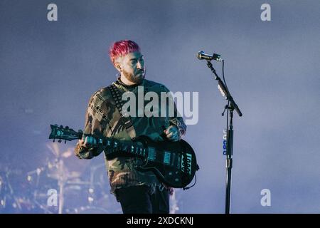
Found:
<svg viewBox="0 0 320 228"><path fill-rule="evenodd" d="M49 139L78 140L82 138L82 130L75 130L62 125L50 125ZM154 142L147 136L135 140L124 141L114 138L97 138L97 142L105 147L108 160L119 156L137 156L142 158L137 170L152 171L161 182L170 187L186 187L193 180L198 165L196 155L188 142L169 140Z"/></svg>

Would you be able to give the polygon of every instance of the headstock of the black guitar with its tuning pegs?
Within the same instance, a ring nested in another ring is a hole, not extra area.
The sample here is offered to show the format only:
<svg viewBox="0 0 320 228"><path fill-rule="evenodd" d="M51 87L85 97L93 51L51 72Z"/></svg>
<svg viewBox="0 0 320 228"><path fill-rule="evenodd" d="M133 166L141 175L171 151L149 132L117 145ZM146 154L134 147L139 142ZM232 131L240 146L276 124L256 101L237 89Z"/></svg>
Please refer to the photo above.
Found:
<svg viewBox="0 0 320 228"><path fill-rule="evenodd" d="M55 142L55 139L58 139L58 142L62 142L62 140L68 140L68 141L72 141L72 140L78 140L82 138L82 130L79 130L78 132L76 132L75 130L73 130L72 128L69 128L68 126L65 126L65 128L63 128L63 125L60 125L60 127L58 127L58 125L50 125L51 128L51 133L49 135L49 139L53 139L53 142Z"/></svg>

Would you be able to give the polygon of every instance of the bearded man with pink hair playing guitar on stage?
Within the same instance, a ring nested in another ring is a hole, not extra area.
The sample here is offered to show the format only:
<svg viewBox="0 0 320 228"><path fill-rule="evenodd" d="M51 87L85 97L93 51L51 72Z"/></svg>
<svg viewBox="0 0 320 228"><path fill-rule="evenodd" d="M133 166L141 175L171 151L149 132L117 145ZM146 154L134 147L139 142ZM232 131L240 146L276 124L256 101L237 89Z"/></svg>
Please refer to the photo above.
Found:
<svg viewBox="0 0 320 228"><path fill-rule="evenodd" d="M119 78L112 86L121 95L130 92L139 98L138 90L143 90L144 93L154 92L159 96L161 92L169 92L166 86L144 79L144 56L134 41L113 43L109 55L114 68L119 71ZM146 135L154 141L180 140L186 133L186 125L183 118L177 115L175 105L174 113L173 117L131 115L129 118L132 128L128 131L128 121L117 108L110 87L97 90L89 100L83 130L86 136L77 143L75 155L81 159L91 159L100 155L105 148L97 143L96 138L103 136L132 140L133 135ZM135 167L139 162L138 157L106 158L112 194L117 197L124 213L169 213L169 194L172 189L160 182L153 172L137 170Z"/></svg>

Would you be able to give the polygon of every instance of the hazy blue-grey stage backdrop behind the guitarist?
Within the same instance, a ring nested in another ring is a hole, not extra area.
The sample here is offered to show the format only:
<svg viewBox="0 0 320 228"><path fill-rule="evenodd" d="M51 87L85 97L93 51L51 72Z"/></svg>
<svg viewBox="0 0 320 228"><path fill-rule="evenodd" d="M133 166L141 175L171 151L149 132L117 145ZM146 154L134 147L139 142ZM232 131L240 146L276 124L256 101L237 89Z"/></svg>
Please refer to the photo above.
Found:
<svg viewBox="0 0 320 228"><path fill-rule="evenodd" d="M58 21L47 20L50 3L58 6ZM271 21L260 19L264 3ZM48 134L51 123L83 127L90 95L116 79L110 44L132 39L142 48L147 79L199 93L198 124L188 125L185 139L201 169L195 187L176 191L174 212L223 213L225 207L225 100L206 62L196 58L203 50L225 58L228 88L243 113L234 118L231 212L319 213L319 28L320 1L311 0L2 0L0 193L6 206L0 212L58 212L46 207L46 191L58 190L55 151L73 172L63 212L85 206L83 212L121 213L103 156L78 160L70 155L75 141L54 147ZM222 76L221 63L213 64ZM92 186L85 181L92 173L94 190L103 194L89 204ZM271 206L260 203L263 189L271 192Z"/></svg>

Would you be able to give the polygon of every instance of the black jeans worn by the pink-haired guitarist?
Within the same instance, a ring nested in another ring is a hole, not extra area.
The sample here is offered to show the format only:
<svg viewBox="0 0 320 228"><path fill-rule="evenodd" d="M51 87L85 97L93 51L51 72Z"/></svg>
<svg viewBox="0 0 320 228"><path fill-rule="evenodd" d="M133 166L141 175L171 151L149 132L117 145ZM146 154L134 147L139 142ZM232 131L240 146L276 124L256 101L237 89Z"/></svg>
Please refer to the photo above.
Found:
<svg viewBox="0 0 320 228"><path fill-rule="evenodd" d="M145 185L118 189L117 199L124 214L169 214L169 191L156 187L150 194Z"/></svg>

